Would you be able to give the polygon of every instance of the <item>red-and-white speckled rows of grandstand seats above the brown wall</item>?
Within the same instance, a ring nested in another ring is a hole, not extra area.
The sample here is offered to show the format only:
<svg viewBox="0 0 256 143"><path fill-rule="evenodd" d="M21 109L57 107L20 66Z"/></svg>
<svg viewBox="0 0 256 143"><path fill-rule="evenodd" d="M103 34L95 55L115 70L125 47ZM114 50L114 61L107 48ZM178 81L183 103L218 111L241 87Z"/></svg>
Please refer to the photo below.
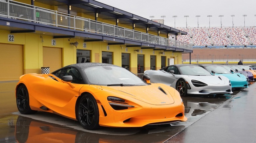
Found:
<svg viewBox="0 0 256 143"><path fill-rule="evenodd" d="M177 29L188 33L187 35L178 35L177 40L194 44L195 46L211 45L207 30L214 46L256 45L256 27L188 27ZM246 36L248 36L251 43Z"/></svg>

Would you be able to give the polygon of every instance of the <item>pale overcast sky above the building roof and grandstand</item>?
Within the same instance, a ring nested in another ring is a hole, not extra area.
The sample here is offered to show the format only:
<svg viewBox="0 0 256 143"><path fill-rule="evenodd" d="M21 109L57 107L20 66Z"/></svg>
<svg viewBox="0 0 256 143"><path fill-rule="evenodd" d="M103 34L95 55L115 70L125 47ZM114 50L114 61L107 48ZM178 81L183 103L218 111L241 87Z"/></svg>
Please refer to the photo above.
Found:
<svg viewBox="0 0 256 143"><path fill-rule="evenodd" d="M150 19L164 18L164 24L174 27L231 27L232 17L234 26L256 26L256 0L96 0L106 5ZM200 15L200 17L196 17ZM224 17L219 17L223 15ZM247 15L244 17L243 15ZM245 19L244 19L245 18Z"/></svg>

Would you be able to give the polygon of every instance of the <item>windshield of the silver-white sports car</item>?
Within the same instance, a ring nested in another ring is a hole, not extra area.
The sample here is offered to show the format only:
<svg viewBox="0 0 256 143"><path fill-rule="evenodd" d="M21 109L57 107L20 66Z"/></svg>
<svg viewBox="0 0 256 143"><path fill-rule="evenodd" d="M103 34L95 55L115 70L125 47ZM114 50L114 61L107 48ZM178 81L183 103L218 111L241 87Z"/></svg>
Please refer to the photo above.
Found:
<svg viewBox="0 0 256 143"><path fill-rule="evenodd" d="M185 75L211 75L210 72L199 66L181 66L180 70Z"/></svg>

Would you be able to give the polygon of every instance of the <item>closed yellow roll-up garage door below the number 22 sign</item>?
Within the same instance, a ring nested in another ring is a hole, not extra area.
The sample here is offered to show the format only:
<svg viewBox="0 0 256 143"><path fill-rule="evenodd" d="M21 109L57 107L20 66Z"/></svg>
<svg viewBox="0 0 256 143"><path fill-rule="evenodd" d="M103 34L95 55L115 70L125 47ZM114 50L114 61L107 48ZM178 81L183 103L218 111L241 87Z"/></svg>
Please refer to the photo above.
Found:
<svg viewBox="0 0 256 143"><path fill-rule="evenodd" d="M0 81L19 80L23 71L23 45L0 43Z"/></svg>

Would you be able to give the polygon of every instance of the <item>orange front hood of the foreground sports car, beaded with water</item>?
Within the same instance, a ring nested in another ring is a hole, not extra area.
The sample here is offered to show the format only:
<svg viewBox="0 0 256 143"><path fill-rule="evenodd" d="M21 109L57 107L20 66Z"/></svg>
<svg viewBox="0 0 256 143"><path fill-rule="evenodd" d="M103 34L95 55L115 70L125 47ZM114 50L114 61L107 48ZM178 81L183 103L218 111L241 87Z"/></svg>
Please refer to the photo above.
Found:
<svg viewBox="0 0 256 143"><path fill-rule="evenodd" d="M164 87L168 87L167 90ZM153 105L165 105L174 103L174 99L172 96L176 92L171 91L172 87L163 85L163 84L151 84L147 86L102 86L104 89L112 90L112 91L120 91L126 94L126 96L135 98L145 103L153 104ZM173 88L173 90L175 90ZM164 93L164 92L166 93ZM172 94L171 94L171 93Z"/></svg>

